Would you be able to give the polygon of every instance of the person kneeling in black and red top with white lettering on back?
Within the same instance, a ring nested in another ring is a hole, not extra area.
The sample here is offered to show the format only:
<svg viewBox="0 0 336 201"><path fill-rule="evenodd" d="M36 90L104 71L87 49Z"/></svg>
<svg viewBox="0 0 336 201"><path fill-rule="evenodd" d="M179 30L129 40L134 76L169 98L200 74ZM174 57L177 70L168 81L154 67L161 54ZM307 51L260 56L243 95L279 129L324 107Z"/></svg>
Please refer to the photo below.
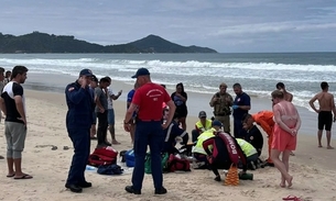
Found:
<svg viewBox="0 0 336 201"><path fill-rule="evenodd" d="M209 148L210 145L212 148ZM216 181L221 180L218 169L229 169L232 164L238 167L239 160L242 164L242 174L246 172L246 155L231 135L224 132L216 132L214 137L203 142L203 148L207 154L207 159L216 176Z"/></svg>

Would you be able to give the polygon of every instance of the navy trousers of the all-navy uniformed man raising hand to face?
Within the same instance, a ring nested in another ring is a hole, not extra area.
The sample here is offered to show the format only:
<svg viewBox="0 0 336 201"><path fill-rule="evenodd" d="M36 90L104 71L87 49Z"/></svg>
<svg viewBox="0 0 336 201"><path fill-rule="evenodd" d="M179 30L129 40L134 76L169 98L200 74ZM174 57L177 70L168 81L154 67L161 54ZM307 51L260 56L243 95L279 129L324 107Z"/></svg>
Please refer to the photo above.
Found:
<svg viewBox="0 0 336 201"><path fill-rule="evenodd" d="M66 183L79 185L85 182L85 169L90 154L90 131L85 129L69 129L68 136L74 145L74 156Z"/></svg>

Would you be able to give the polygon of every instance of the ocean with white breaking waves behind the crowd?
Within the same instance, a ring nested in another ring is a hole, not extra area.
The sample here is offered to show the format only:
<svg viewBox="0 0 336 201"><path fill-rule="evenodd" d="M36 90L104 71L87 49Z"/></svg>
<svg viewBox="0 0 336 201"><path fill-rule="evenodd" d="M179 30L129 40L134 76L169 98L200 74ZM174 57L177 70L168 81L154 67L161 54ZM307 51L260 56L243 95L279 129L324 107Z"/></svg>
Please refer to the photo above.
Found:
<svg viewBox="0 0 336 201"><path fill-rule="evenodd" d="M0 54L0 66L24 65L30 74L77 77L89 68L97 77L133 83L140 67L149 68L155 82L169 89L183 82L186 92L214 93L220 82L241 83L256 98L270 98L279 81L294 94L293 103L308 110L308 100L327 81L336 92L336 53L265 54ZM28 79L28 82L30 79ZM47 85L47 81L46 81ZM228 92L234 96L231 87ZM311 110L312 111L312 110Z"/></svg>

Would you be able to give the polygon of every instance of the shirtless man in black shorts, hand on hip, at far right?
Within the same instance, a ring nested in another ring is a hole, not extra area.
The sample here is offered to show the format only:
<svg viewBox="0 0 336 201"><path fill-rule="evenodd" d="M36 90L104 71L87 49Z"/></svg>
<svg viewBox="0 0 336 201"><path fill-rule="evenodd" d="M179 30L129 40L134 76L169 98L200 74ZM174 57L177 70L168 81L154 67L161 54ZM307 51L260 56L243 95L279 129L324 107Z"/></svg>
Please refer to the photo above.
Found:
<svg viewBox="0 0 336 201"><path fill-rule="evenodd" d="M334 96L328 92L329 85L325 81L321 82L322 92L315 94L310 101L310 105L312 109L318 113L318 131L317 131L317 138L318 138L318 147L322 147L322 133L323 129L325 129L327 134L327 149L334 149L330 146L330 138L332 138L332 124L333 124L333 114L334 113L334 122L336 121L336 110L335 110L335 102ZM314 102L318 100L319 109L317 110L314 105Z"/></svg>

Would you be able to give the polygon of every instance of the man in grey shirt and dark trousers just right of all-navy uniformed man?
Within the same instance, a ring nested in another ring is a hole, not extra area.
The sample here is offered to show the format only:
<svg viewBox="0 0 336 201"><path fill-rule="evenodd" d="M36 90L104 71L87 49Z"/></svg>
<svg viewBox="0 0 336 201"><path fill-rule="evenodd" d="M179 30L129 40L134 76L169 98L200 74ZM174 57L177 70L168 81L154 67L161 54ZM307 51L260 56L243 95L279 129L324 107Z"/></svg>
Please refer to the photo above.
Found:
<svg viewBox="0 0 336 201"><path fill-rule="evenodd" d="M111 146L107 142L107 127L108 127L108 102L107 102L107 87L110 85L108 78L101 78L99 80L99 87L95 89L95 112L98 118L98 146Z"/></svg>

